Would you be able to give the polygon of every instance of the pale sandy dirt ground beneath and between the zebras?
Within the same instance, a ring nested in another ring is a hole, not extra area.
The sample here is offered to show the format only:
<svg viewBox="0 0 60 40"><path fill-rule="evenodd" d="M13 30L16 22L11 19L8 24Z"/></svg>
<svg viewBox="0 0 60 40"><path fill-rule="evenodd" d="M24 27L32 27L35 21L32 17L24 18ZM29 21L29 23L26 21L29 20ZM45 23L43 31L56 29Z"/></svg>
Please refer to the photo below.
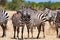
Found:
<svg viewBox="0 0 60 40"><path fill-rule="evenodd" d="M13 39L13 25L12 25L11 17L12 17L14 12L15 11L8 11L9 20L7 23L6 37L4 37L4 38L0 37L0 40L18 40L18 39ZM36 38L37 33L38 33L37 29L34 29L34 32L33 32L34 38ZM0 27L0 36L1 35L2 35L2 28ZM41 31L39 36L40 36L39 39L30 39L31 38L31 33L30 33L30 36L29 36L30 38L26 39L28 37L28 35L27 35L27 29L25 26L25 28L24 28L24 38L25 39L24 40L60 40L60 38L56 37L55 29L50 29L50 25L48 22L46 22L46 25L45 25L45 38L43 38L42 31ZM19 38L21 38L21 28L20 28Z"/></svg>

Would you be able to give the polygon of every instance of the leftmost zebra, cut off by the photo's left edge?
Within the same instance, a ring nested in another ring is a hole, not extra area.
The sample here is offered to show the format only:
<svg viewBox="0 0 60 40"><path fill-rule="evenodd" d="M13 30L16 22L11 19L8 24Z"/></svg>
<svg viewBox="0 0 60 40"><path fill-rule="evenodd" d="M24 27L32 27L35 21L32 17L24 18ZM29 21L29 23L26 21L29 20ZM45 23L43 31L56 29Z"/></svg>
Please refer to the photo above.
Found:
<svg viewBox="0 0 60 40"><path fill-rule="evenodd" d="M8 13L6 10L0 9L0 25L3 29L2 37L6 36L6 29L7 29L7 21L8 21Z"/></svg>

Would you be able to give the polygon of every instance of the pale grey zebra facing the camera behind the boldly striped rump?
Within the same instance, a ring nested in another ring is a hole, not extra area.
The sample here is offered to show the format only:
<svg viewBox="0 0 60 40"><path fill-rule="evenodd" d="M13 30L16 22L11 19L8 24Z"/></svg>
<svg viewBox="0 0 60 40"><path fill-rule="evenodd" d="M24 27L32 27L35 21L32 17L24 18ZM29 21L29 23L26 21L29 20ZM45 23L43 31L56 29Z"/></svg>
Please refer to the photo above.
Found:
<svg viewBox="0 0 60 40"><path fill-rule="evenodd" d="M49 8L46 8L44 13L46 13L46 20L49 22L51 28L52 28L52 24L51 22L53 22L53 25L55 24L55 20L56 20L56 16L57 16L57 10L51 10Z"/></svg>

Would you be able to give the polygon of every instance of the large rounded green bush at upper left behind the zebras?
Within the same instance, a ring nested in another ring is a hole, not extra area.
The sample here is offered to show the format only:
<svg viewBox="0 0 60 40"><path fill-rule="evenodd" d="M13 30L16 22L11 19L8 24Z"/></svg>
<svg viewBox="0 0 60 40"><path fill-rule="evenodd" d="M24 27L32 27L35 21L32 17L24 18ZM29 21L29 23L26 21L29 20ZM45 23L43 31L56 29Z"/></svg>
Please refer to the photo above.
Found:
<svg viewBox="0 0 60 40"><path fill-rule="evenodd" d="M19 10L24 5L24 0L12 0L12 2L6 3L6 9Z"/></svg>

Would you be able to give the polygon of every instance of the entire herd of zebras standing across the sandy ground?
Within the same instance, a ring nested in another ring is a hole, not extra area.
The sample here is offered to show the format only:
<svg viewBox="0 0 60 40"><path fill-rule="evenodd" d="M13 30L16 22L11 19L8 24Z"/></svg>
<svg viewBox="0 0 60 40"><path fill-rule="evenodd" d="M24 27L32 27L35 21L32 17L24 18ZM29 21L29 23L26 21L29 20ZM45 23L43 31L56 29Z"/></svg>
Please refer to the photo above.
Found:
<svg viewBox="0 0 60 40"><path fill-rule="evenodd" d="M3 35L2 37L6 36L6 24L8 21L8 13L5 10L0 10L0 25L3 29ZM44 33L44 26L45 22L48 21L51 25L51 22L56 25L56 32L58 37L58 28L60 27L60 9L58 10L51 10L49 8L46 8L44 11L35 10L30 7L23 8L22 10L16 11L16 13L13 14L12 18L12 24L14 29L14 38L16 38L16 31L17 31L17 38L19 38L19 27L22 27L22 35L23 38L23 31L24 26L27 27L28 32L28 38L29 38L29 29L31 30L32 38L33 38L33 28L37 27L38 35L36 38L39 38L39 34L41 31L41 28L43 29L43 37L45 38Z"/></svg>

